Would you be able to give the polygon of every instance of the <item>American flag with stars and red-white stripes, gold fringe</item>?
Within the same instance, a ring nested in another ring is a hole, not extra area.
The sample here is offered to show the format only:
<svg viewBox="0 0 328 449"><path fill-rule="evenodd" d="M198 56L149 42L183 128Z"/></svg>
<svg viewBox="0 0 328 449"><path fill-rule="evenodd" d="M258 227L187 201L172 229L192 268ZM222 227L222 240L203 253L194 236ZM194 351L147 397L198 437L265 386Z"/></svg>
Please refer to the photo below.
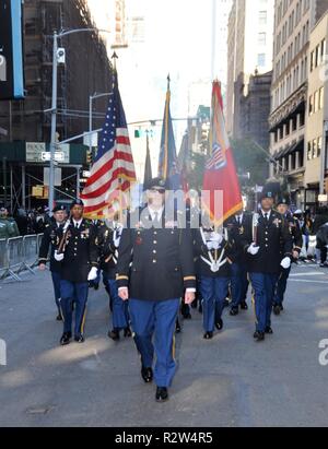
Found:
<svg viewBox="0 0 328 449"><path fill-rule="evenodd" d="M85 216L102 216L103 211L117 201L119 192L128 191L134 181L136 170L129 132L115 73L113 95L109 97L97 154L81 194Z"/></svg>

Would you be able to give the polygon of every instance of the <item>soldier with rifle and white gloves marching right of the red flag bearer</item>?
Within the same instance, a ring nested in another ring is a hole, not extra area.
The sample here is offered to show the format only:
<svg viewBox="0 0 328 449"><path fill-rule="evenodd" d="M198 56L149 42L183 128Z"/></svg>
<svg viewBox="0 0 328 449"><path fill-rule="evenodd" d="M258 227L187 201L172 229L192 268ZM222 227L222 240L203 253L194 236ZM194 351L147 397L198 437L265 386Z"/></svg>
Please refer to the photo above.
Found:
<svg viewBox="0 0 328 449"><path fill-rule="evenodd" d="M260 211L253 218L253 236L245 236L243 243L254 291L254 338L257 341L263 341L266 333L273 333L271 314L274 288L280 268L289 269L292 259L293 244L288 222L273 210L273 204L274 192L265 187Z"/></svg>

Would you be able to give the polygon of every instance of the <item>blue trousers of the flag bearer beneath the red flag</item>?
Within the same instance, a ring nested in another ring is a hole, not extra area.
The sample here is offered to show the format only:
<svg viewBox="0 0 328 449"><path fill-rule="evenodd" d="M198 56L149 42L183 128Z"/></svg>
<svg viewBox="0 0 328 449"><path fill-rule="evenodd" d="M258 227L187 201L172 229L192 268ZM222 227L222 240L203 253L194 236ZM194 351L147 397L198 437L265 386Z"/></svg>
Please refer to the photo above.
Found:
<svg viewBox="0 0 328 449"><path fill-rule="evenodd" d="M230 277L200 277L203 329L206 332L213 332L215 319L222 317L224 299L229 293L229 283Z"/></svg>

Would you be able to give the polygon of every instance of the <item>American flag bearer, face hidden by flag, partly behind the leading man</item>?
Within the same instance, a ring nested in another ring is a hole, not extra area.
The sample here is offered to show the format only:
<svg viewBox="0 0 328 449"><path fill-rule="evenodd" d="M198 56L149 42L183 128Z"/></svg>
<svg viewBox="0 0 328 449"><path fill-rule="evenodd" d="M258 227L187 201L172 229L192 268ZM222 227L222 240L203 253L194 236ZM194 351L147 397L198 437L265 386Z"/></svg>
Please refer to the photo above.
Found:
<svg viewBox="0 0 328 449"><path fill-rule="evenodd" d="M117 221L106 220L97 227L96 245L99 255L99 268L103 271L103 280L112 300L113 330L108 332L109 339L118 341L120 331L125 336L132 336L129 326L128 302L122 302L118 296L116 283L116 269L118 247L122 227Z"/></svg>

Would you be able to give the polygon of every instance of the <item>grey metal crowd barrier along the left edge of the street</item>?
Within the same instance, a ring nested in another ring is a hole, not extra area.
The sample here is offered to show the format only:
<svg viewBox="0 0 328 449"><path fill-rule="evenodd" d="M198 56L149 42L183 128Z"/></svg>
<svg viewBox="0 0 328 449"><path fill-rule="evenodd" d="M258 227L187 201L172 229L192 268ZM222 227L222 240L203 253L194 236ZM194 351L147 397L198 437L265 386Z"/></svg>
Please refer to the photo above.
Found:
<svg viewBox="0 0 328 449"><path fill-rule="evenodd" d="M20 273L28 271L35 275L38 250L43 234L13 237L0 240L0 281L7 277L22 281Z"/></svg>

